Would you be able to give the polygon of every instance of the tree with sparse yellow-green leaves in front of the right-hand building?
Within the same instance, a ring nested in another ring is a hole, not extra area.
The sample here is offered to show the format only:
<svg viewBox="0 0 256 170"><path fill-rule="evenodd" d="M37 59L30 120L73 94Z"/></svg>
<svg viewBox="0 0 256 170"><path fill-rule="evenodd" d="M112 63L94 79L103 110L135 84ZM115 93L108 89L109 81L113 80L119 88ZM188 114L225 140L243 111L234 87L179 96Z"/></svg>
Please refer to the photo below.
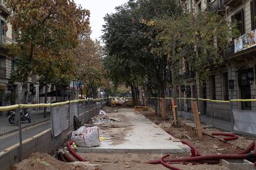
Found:
<svg viewBox="0 0 256 170"><path fill-rule="evenodd" d="M164 46L177 42L174 51L179 57L182 47L187 47L189 55L184 60L197 73L194 79L196 90L197 80L203 84L210 72L223 63L221 53L228 46L229 38L237 34L236 23L227 22L210 10L165 18L158 21L158 27L163 30L158 39L163 41ZM195 94L198 99L197 92Z"/></svg>

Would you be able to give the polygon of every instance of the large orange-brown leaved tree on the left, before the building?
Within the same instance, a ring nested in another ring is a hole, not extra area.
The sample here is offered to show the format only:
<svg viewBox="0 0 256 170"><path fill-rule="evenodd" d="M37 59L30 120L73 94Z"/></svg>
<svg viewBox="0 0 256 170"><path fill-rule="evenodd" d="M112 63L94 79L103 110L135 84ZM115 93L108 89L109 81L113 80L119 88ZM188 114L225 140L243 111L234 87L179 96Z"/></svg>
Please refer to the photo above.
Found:
<svg viewBox="0 0 256 170"><path fill-rule="evenodd" d="M78 35L88 29L90 12L72 0L7 0L6 6L14 11L8 22L15 30L17 44L8 49L17 56L15 75L22 82L20 102L25 103L28 77L35 73L49 83L52 64L69 57L78 44ZM42 67L45 71L38 72Z"/></svg>

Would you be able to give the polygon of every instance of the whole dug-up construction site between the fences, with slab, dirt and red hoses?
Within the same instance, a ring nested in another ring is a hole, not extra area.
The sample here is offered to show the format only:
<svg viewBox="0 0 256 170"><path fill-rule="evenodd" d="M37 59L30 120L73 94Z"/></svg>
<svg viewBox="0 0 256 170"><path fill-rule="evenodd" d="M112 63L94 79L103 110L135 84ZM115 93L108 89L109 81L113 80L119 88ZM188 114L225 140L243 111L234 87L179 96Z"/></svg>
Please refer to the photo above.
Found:
<svg viewBox="0 0 256 170"><path fill-rule="evenodd" d="M161 118L150 103L132 107L129 99L108 101L85 123L82 114L75 118L70 132L54 139L58 145L46 142L49 138L40 139L43 145L25 142L23 150L31 153L10 169L255 169L254 137L176 117L171 106Z"/></svg>

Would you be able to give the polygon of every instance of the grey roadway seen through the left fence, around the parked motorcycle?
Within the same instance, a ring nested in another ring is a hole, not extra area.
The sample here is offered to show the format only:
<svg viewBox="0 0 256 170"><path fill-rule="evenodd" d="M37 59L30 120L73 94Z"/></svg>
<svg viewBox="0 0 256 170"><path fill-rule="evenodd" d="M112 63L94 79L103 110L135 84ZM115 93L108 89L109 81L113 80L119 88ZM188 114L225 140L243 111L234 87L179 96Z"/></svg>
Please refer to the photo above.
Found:
<svg viewBox="0 0 256 170"><path fill-rule="evenodd" d="M28 121L22 121L22 129L28 126L32 126L34 124L43 123L49 121L49 110L47 110L46 118L43 118L43 110L38 111L30 111L31 123ZM0 136L5 134L10 134L11 132L17 131L19 129L18 126L14 126L14 124L10 124L8 121L8 117L0 118Z"/></svg>

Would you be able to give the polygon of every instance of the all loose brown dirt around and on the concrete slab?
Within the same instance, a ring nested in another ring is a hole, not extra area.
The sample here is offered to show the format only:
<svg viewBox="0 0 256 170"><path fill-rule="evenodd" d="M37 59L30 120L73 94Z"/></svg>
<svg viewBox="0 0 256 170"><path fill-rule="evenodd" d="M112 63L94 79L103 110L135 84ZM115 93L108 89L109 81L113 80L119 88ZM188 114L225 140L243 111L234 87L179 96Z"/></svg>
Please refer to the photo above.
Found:
<svg viewBox="0 0 256 170"><path fill-rule="evenodd" d="M114 108L114 110L118 110L119 107ZM122 114L120 113L109 113L111 112L110 108L108 108L108 118L111 118L111 116L114 117L116 120L112 120L111 124L98 124L101 128L101 130L104 132L103 136L105 134L105 137L111 137L111 141L113 144L119 144L120 142L123 142L126 136L126 130L132 129L132 126L129 126L130 123L127 121ZM197 148L198 152L201 155L207 155L207 154L232 154L232 153L238 153L245 147L247 147L252 141L255 141L254 138L246 137L246 136L238 136L237 140L229 141L228 144L224 144L223 142L220 142L218 139L222 139L221 136L211 137L211 136L203 136L203 139L198 139L195 131L192 127L184 126L184 123L191 124L192 122L187 119L179 118L179 126L178 127L171 127L171 123L169 119L161 119L158 118L157 115L155 115L153 110L148 111L140 111L142 115L145 115L148 119L150 119L153 123L158 124L164 131L171 134L173 137L179 138L179 139L186 139L190 142L190 144L193 144L195 148ZM101 115L103 116L103 115ZM108 119L107 118L107 119ZM106 121L105 118L101 119L98 118L99 121ZM118 123L117 123L118 122ZM122 126L120 126L120 123ZM117 126L119 124L119 126ZM109 128L112 127L112 128ZM113 128L116 127L116 128ZM220 129L216 129L213 127L209 127L205 125L205 128L203 129L203 132L206 134L211 134L212 132L224 132ZM123 132L117 133L116 129L122 128ZM187 137L185 136L187 135ZM188 139L188 137L190 139ZM117 143L115 143L117 142ZM171 154L171 158L181 158L185 156L190 156L191 153L179 153L179 154ZM88 161L88 163L85 164L85 166L74 166L70 165L68 163L62 163L61 161L55 160L53 157L44 154L44 153L35 153L32 155L28 160L23 160L22 163L16 164L14 168L12 169L47 169L47 170L53 170L53 169L109 169L109 170L117 170L117 169L168 169L165 168L161 164L147 164L145 162L149 160L159 160L163 155L161 154L143 154L143 153L79 153L80 156L85 158L85 160ZM90 164L93 164L96 166L90 167ZM96 167L96 168L95 168ZM219 164L174 164L174 167L180 168L180 169L199 169L199 170L205 170L205 169L228 169L223 166L220 166Z"/></svg>

